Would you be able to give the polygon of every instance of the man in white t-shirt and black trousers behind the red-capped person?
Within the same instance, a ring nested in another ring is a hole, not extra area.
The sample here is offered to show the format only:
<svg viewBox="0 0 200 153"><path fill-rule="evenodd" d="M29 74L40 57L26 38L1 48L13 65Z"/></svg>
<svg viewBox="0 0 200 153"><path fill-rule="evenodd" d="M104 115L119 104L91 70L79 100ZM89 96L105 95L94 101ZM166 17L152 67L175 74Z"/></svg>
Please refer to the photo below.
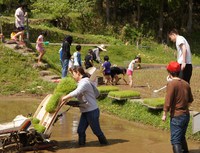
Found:
<svg viewBox="0 0 200 153"><path fill-rule="evenodd" d="M177 62L181 65L180 78L190 83L192 76L192 55L187 40L178 34L176 29L169 32L169 38L176 43Z"/></svg>

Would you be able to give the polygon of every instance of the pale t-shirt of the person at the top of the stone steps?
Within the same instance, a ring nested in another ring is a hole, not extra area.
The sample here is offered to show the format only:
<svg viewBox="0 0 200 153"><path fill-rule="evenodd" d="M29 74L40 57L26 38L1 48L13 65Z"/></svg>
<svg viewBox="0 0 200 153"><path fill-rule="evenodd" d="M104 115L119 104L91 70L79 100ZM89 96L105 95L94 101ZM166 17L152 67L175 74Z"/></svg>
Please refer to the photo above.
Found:
<svg viewBox="0 0 200 153"><path fill-rule="evenodd" d="M17 20L16 16L20 19L19 21ZM15 11L15 26L17 28L24 27L24 12L21 7Z"/></svg>

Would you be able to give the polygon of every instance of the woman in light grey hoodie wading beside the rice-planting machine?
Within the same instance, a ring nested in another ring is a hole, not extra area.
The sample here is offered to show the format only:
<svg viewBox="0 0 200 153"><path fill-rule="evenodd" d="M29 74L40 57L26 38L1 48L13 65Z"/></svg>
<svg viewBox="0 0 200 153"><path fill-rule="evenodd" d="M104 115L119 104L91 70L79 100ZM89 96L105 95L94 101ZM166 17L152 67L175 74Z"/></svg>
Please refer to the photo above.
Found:
<svg viewBox="0 0 200 153"><path fill-rule="evenodd" d="M98 90L89 80L83 67L73 69L73 77L78 82L77 88L68 95L62 97L62 102L68 101L72 97L77 97L80 103L81 117L78 125L79 145L85 145L86 129L91 127L93 133L98 137L100 144L107 145L108 141L100 128L100 111L96 101L96 90Z"/></svg>

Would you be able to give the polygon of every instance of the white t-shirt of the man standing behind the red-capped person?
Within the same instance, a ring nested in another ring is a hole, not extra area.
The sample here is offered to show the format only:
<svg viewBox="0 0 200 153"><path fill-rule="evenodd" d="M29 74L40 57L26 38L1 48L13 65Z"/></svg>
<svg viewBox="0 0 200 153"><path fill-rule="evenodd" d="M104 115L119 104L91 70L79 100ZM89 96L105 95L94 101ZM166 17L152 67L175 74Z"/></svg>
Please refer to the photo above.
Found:
<svg viewBox="0 0 200 153"><path fill-rule="evenodd" d="M179 64L183 63L183 52L180 48L181 44L184 44L186 46L186 60L185 60L186 64L192 64L190 45L188 44L187 40L180 35L178 35L176 38L177 62Z"/></svg>

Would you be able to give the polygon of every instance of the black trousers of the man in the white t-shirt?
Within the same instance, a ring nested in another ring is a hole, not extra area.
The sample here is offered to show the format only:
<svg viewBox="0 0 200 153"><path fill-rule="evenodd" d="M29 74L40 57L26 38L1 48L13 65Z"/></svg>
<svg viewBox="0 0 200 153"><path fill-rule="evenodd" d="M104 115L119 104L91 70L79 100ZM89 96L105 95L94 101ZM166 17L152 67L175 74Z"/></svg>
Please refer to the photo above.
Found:
<svg viewBox="0 0 200 153"><path fill-rule="evenodd" d="M180 72L179 77L190 84L190 78L192 76L192 64L186 64L183 71Z"/></svg>

